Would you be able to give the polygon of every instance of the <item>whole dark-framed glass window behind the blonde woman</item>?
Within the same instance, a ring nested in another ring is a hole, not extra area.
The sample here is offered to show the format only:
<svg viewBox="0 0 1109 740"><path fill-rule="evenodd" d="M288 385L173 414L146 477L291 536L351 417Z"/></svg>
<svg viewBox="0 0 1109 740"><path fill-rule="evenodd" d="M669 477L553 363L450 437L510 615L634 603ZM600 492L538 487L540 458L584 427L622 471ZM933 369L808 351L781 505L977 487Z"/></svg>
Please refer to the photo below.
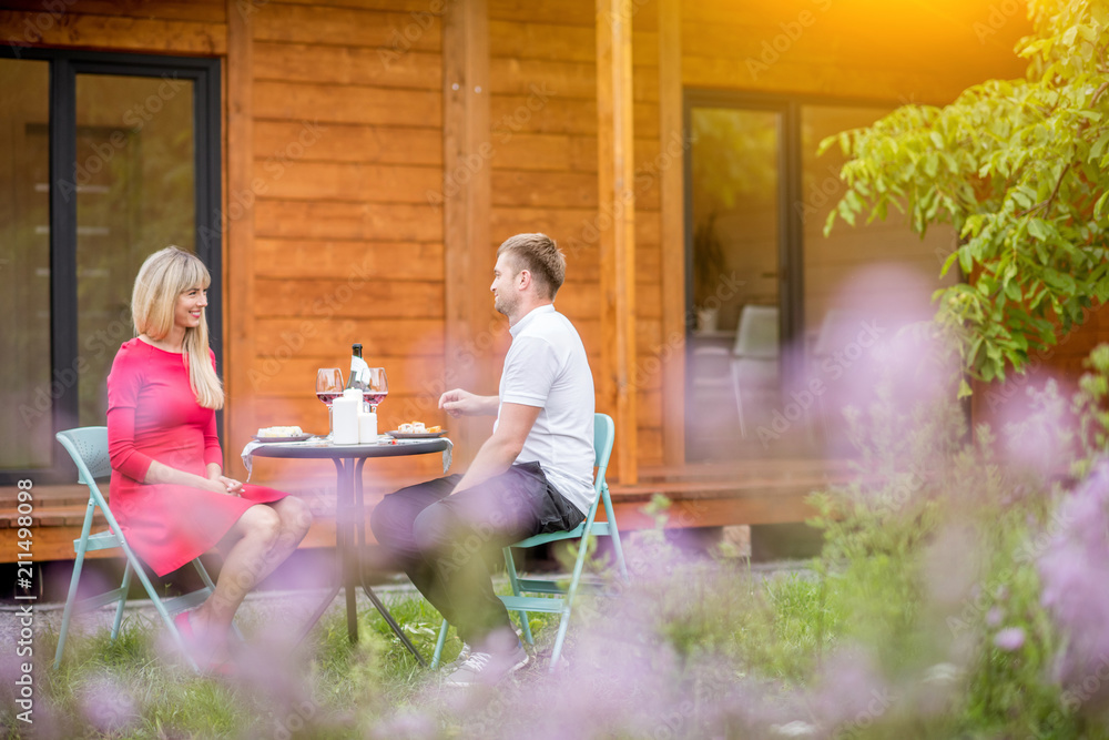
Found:
<svg viewBox="0 0 1109 740"><path fill-rule="evenodd" d="M0 484L72 481L53 435L104 424L147 254L208 265L218 356L218 62L18 51L0 55Z"/></svg>

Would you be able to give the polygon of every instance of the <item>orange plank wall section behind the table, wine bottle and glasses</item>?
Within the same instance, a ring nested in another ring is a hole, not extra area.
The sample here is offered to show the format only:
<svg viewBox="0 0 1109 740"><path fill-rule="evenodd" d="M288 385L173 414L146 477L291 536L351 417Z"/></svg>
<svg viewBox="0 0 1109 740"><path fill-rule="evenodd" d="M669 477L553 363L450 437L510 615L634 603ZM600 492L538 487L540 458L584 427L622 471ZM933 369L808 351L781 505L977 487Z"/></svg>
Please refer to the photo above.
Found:
<svg viewBox="0 0 1109 740"><path fill-rule="evenodd" d="M253 322L255 353L235 410L252 427L323 432L316 369L345 377L355 342L388 373L380 429L416 413L442 423L441 13L353 4L269 2L252 19L254 270L238 278L254 281L240 321ZM430 457L407 460L405 477L433 475Z"/></svg>

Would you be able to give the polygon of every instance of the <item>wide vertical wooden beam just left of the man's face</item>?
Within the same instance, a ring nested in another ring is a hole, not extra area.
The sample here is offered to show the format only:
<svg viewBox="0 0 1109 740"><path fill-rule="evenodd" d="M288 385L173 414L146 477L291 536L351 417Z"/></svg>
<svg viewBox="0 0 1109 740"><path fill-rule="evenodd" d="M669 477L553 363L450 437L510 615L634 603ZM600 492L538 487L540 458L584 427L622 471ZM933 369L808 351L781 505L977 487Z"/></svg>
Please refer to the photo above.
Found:
<svg viewBox="0 0 1109 740"><path fill-rule="evenodd" d="M448 2L442 17L442 239L446 271L446 388L496 394L496 325L489 284L492 146L489 136L489 16L486 0ZM501 318L503 321L503 318ZM489 378L495 378L490 385ZM449 420L455 455L468 464L489 435L489 419Z"/></svg>

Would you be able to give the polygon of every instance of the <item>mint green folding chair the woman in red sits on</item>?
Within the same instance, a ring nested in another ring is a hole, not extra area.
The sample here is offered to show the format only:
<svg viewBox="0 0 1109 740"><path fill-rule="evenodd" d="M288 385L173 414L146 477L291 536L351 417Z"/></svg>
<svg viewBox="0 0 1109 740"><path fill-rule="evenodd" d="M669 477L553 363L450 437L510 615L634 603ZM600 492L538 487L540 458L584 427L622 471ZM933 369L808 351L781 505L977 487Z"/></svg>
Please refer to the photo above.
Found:
<svg viewBox="0 0 1109 740"><path fill-rule="evenodd" d="M74 612L88 611L108 604L119 602L115 607L115 619L112 622L112 640L119 636L120 624L123 620L123 607L126 604L128 589L131 586L131 574L134 572L139 576L139 580L142 582L143 588L146 589L146 595L154 605L154 609L157 610L159 616L170 630L170 633L176 641L177 647L181 648L182 655L186 657L193 669L196 669L195 661L185 649L184 640L182 640L176 625L173 624L172 615L200 606L212 594L215 585L212 582L212 578L204 568L204 564L201 562L200 558L193 560L193 566L196 568L196 572L200 574L201 579L205 584L204 588L192 591L191 594L174 597L172 599L162 600L159 598L157 591L154 589L154 586L150 582L150 578L146 577L146 572L143 570L142 561L131 549L131 546L128 545L128 540L123 536L123 530L120 529L120 525L115 521L115 517L112 516L112 510L108 507L108 500L100 493L100 487L96 485L96 478L105 478L112 473L111 460L108 457L108 427L87 426L59 432L54 436L77 464L78 483L83 483L89 487L89 506L84 513L84 524L81 526L81 537L80 539L73 540L73 551L77 554L77 558L73 561L73 577L70 579L69 595L65 597L65 608L62 611L62 628L61 633L58 636L58 651L54 653L54 668L57 669L61 666L62 651L65 649L65 635L69 631L70 618ZM108 530L92 535L90 534L92 530L92 519L95 516L98 508L104 514L104 518L108 520ZM81 580L81 569L84 565L85 553L115 547L121 548L126 557L126 567L123 570L122 585L119 588L105 594L92 596L78 601L78 582Z"/></svg>

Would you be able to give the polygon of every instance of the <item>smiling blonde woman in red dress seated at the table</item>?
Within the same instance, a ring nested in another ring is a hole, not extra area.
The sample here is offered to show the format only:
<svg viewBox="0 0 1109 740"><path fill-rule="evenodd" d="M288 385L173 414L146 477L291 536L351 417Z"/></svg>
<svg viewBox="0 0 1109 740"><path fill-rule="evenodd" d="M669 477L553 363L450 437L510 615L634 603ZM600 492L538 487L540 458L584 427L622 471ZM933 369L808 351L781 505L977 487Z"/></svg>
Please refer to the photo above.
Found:
<svg viewBox="0 0 1109 740"><path fill-rule="evenodd" d="M175 246L139 270L136 337L108 376L112 511L159 576L217 547L215 591L175 622L199 665L227 668L227 633L247 591L287 558L312 524L297 498L223 475L215 409L224 395L208 347L207 268Z"/></svg>

